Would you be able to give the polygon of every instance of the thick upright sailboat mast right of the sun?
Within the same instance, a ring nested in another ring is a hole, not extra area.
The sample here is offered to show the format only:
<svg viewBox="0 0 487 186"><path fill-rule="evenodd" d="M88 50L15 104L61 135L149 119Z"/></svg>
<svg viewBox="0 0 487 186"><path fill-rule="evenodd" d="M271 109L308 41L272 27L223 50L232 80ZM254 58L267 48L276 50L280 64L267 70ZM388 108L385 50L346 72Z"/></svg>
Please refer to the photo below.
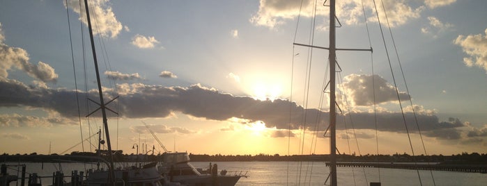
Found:
<svg viewBox="0 0 487 186"><path fill-rule="evenodd" d="M335 98L336 41L335 41L335 0L330 0L330 185L337 185L337 110Z"/></svg>

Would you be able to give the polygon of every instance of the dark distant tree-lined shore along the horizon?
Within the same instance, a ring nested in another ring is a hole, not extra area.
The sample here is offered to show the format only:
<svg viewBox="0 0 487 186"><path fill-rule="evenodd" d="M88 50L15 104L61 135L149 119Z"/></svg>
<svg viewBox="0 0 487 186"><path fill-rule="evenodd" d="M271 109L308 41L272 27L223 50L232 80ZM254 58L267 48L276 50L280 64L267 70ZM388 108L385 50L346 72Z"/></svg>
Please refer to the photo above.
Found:
<svg viewBox="0 0 487 186"><path fill-rule="evenodd" d="M107 158L106 151L101 151L102 158ZM123 154L122 151L114 151L114 160L116 162L153 162L162 160L164 154ZM313 162L327 162L330 160L330 155L207 155L207 154L189 154L193 162L251 162L251 161L313 161ZM87 158L88 157L88 158ZM0 155L1 162L93 162L98 157L97 153L77 152L74 151L65 155L39 155L37 153L31 154L15 154L9 155L3 153ZM486 164L487 154L479 153L459 153L456 155L408 155L407 153L396 153L394 155L337 155L339 162L443 162L448 164Z"/></svg>

